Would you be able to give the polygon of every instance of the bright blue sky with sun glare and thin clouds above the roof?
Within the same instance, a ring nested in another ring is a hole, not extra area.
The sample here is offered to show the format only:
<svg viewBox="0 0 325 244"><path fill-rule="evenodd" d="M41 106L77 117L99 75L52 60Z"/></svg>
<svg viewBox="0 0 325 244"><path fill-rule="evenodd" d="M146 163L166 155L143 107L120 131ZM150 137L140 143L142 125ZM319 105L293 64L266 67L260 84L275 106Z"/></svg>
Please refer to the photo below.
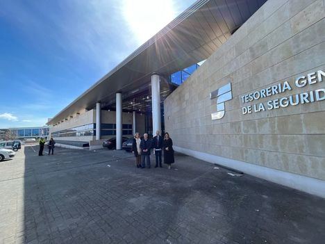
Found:
<svg viewBox="0 0 325 244"><path fill-rule="evenodd" d="M0 1L0 128L44 125L194 1Z"/></svg>

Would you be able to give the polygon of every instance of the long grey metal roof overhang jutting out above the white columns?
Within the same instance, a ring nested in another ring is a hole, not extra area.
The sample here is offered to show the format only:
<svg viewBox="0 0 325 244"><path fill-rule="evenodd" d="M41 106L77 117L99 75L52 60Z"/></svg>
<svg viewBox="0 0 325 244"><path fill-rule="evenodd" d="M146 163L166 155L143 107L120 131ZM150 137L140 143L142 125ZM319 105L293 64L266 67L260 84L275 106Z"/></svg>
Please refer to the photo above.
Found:
<svg viewBox="0 0 325 244"><path fill-rule="evenodd" d="M157 72L168 76L213 54L267 0L199 0L122 63L94 83L47 124L56 124L116 92L128 94L148 85ZM126 97L123 97L125 99Z"/></svg>

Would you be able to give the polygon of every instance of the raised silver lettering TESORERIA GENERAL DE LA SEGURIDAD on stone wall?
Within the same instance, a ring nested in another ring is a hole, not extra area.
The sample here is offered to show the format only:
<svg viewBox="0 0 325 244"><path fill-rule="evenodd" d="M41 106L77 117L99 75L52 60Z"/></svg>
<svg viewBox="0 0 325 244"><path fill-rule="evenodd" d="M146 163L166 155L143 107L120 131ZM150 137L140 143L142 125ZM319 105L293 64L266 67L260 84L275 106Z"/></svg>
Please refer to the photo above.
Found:
<svg viewBox="0 0 325 244"><path fill-rule="evenodd" d="M322 82L325 76L325 72L318 70L307 74L307 76L299 76L295 80L296 88L304 88L306 86L311 86L315 83ZM242 104L246 104L250 101L255 101L264 97L271 97L272 95L280 94L292 90L292 87L288 81L283 83L278 83L275 86L269 86L268 88L256 90L247 95L241 96ZM308 92L301 92L295 95L289 95L277 99L272 99L264 103L253 104L249 106L242 107L242 114L246 115L248 113L258 113L260 111L272 110L276 108L285 108L288 106L296 106L298 104L309 104L315 101L322 101L325 99L325 89L320 88L316 90L310 90Z"/></svg>

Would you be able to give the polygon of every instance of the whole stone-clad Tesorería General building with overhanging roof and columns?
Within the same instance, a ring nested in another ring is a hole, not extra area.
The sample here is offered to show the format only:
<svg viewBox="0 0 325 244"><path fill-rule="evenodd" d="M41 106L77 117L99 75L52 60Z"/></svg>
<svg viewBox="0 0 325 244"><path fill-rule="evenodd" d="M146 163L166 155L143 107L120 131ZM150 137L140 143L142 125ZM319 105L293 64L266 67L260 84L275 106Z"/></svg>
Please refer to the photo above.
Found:
<svg viewBox="0 0 325 244"><path fill-rule="evenodd" d="M167 131L178 152L325 197L324 15L324 0L197 1L50 134L121 149L122 136Z"/></svg>

